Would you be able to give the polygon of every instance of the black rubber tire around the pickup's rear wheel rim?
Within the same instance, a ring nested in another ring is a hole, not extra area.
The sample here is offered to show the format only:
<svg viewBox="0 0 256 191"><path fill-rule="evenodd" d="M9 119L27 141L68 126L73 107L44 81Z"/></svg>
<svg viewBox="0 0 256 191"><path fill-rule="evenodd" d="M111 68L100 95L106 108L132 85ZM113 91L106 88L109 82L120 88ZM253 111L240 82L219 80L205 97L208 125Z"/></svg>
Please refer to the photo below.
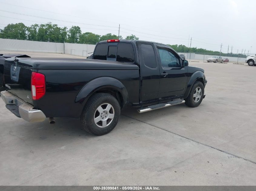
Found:
<svg viewBox="0 0 256 191"><path fill-rule="evenodd" d="M109 113L110 114L112 113L112 115L114 115L114 118L111 118L112 120L110 119L110 121L108 121L109 119L106 118L107 126L103 127L104 126L103 121L99 121L97 124L95 123L95 116L98 115L98 117L100 117L102 113L98 112L98 108L102 105L101 107L102 109L104 108L105 105L107 106L108 104L111 105L111 109L109 110ZM110 94L105 94L105 93L95 94L92 97L90 97L90 99L87 101L82 111L82 114L80 116L82 126L87 132L93 135L105 135L111 132L117 125L120 117L120 110L121 110L120 104L114 96ZM99 126L102 126L102 127L99 127Z"/></svg>

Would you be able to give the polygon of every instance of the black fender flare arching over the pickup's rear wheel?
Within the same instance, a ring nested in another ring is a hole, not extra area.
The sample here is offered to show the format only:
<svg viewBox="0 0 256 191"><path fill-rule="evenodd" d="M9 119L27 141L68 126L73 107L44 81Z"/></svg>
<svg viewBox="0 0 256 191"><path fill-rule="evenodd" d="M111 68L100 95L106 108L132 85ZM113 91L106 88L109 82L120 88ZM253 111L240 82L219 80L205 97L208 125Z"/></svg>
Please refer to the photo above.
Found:
<svg viewBox="0 0 256 191"><path fill-rule="evenodd" d="M122 84L119 80L111 77L100 77L89 81L79 91L78 95L75 98L75 103L82 103L83 105L85 105L85 103L93 93L103 88L116 90L122 95L123 105L121 107L125 106L128 103L128 92L124 84Z"/></svg>

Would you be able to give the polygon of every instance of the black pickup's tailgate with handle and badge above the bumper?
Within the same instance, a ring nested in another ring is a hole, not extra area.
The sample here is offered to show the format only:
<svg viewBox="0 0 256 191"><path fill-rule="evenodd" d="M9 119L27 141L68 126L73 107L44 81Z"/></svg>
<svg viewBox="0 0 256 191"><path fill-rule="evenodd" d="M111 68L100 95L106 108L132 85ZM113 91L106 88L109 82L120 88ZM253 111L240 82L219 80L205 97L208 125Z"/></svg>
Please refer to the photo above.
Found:
<svg viewBox="0 0 256 191"><path fill-rule="evenodd" d="M33 105L31 94L32 67L24 66L18 58L8 58L4 65L6 89L17 97Z"/></svg>

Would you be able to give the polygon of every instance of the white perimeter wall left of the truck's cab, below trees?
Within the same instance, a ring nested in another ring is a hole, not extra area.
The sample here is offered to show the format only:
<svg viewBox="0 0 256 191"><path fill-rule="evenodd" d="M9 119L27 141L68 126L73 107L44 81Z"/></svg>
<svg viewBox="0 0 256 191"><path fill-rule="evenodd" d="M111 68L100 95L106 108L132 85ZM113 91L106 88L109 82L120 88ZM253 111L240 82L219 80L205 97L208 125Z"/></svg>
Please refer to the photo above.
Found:
<svg viewBox="0 0 256 191"><path fill-rule="evenodd" d="M62 53L78 56L90 56L94 51L93 44L49 43L30 40L0 38L0 51Z"/></svg>

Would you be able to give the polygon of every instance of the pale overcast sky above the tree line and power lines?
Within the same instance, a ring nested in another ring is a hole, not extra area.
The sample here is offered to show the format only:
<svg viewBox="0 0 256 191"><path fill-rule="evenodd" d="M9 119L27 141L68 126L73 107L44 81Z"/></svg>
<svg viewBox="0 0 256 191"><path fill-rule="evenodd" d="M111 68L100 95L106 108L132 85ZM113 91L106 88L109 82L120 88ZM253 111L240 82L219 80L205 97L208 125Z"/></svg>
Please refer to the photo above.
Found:
<svg viewBox="0 0 256 191"><path fill-rule="evenodd" d="M0 28L52 22L68 28L77 25L82 32L118 35L120 24L122 37L134 34L140 40L186 46L192 37L191 47L219 51L222 43L224 53L231 52L231 46L233 53L256 53L255 8L254 0L0 0Z"/></svg>

